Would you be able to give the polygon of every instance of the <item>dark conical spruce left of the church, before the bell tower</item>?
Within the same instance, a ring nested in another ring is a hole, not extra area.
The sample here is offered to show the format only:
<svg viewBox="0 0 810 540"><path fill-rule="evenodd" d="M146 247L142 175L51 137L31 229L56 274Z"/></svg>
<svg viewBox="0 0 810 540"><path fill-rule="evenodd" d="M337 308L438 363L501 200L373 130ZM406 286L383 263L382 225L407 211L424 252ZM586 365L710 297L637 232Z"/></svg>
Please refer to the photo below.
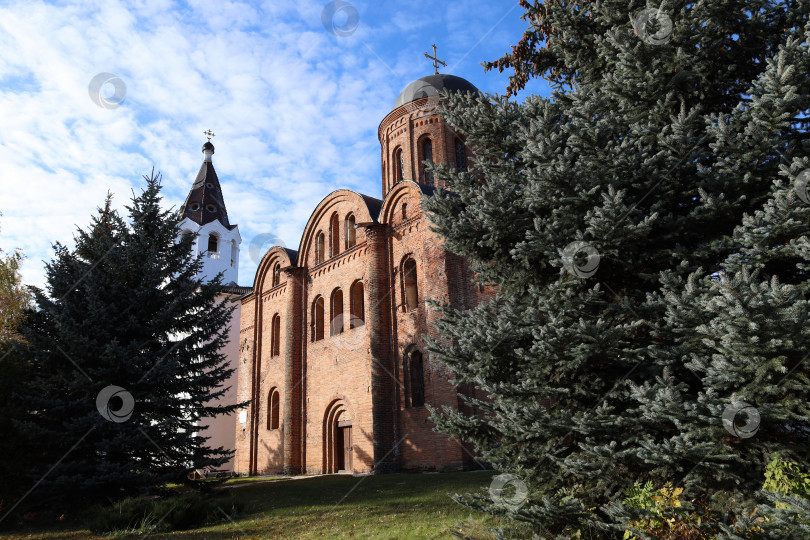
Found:
<svg viewBox="0 0 810 540"><path fill-rule="evenodd" d="M217 299L221 277L197 279L194 239L175 241L160 189L146 178L128 221L108 198L46 265L23 328L32 379L21 428L36 449L26 505L154 492L231 453L206 447L197 421L238 406L212 404L233 371L220 352L233 308Z"/></svg>

